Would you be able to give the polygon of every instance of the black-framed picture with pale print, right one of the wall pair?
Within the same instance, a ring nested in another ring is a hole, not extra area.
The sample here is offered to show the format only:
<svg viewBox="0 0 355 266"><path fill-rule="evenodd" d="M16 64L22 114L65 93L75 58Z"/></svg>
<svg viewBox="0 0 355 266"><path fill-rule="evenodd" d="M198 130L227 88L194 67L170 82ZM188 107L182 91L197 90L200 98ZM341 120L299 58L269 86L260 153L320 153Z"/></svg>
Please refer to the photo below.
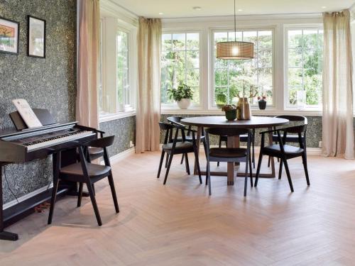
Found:
<svg viewBox="0 0 355 266"><path fill-rule="evenodd" d="M28 16L27 55L45 58L45 21L34 16Z"/></svg>

